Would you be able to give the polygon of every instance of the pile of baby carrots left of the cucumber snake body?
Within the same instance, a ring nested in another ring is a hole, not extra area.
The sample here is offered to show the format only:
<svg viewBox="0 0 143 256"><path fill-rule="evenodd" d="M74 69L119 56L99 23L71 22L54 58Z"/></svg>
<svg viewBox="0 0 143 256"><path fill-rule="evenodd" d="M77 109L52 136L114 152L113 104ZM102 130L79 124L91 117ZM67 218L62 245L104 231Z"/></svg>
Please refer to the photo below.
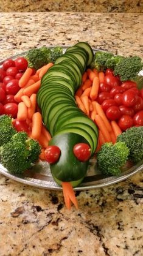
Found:
<svg viewBox="0 0 143 256"><path fill-rule="evenodd" d="M19 79L19 91L14 99L18 102L17 118L20 121L26 121L29 126L29 137L38 140L42 149L40 159L44 160L44 149L48 146L51 140L51 134L43 125L42 116L37 106L37 92L41 85L41 78L44 73L54 64L49 63L41 69L38 69L35 75L32 75L33 70L27 67L23 76Z"/></svg>

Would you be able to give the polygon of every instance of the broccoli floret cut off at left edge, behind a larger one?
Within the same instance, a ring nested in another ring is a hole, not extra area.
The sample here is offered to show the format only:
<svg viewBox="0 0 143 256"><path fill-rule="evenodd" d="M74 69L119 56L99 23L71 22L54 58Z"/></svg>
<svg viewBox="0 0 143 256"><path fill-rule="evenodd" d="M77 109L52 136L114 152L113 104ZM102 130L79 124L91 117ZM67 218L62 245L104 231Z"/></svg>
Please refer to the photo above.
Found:
<svg viewBox="0 0 143 256"><path fill-rule="evenodd" d="M12 118L7 115L0 116L0 146L11 140L16 134L16 130L12 126Z"/></svg>

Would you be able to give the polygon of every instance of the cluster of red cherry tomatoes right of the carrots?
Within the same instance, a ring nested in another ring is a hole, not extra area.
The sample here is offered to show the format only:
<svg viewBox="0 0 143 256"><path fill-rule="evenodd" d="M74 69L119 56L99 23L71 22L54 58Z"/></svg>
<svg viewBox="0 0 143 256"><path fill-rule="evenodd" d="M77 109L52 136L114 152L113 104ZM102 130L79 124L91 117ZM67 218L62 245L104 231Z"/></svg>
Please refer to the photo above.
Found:
<svg viewBox="0 0 143 256"><path fill-rule="evenodd" d="M143 126L143 89L139 90L134 81L122 83L111 69L106 69L100 83L97 102L110 121L118 122L120 129Z"/></svg>

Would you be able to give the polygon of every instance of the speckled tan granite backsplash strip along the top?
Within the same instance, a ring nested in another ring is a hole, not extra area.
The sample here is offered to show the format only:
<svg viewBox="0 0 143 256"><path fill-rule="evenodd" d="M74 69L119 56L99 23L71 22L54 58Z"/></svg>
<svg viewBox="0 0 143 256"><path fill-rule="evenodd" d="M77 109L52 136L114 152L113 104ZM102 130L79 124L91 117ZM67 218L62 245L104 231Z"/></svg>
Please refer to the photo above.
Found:
<svg viewBox="0 0 143 256"><path fill-rule="evenodd" d="M143 0L1 0L0 12L143 12Z"/></svg>

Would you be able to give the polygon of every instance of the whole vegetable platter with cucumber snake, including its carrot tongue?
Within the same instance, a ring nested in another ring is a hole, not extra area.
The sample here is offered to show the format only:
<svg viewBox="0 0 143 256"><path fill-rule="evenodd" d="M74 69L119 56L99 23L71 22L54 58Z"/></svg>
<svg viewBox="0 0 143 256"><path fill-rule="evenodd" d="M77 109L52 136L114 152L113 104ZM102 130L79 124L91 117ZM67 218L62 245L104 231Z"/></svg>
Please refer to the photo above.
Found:
<svg viewBox="0 0 143 256"><path fill-rule="evenodd" d="M5 140L1 133L1 174L30 186L63 189L69 209L71 201L77 208L72 187L104 187L142 170L141 58L79 42L32 49L0 68L0 132L9 134ZM14 155L9 157L12 148L16 154L21 150L17 165Z"/></svg>

